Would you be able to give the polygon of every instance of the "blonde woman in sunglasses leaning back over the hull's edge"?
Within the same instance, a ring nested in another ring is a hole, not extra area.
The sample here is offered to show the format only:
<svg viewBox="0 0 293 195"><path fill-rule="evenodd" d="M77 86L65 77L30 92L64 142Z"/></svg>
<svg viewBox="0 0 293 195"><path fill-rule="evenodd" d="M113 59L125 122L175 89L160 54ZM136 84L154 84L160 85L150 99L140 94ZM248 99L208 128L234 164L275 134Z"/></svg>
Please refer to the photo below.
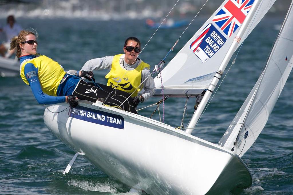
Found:
<svg viewBox="0 0 293 195"><path fill-rule="evenodd" d="M68 74L58 62L45 55L38 54L37 36L35 30L21 30L18 37L11 39L10 50L16 48L16 56L21 63L21 78L25 84L30 86L39 104L68 102L75 107L77 106L76 99L96 102L98 97L105 99L108 91L113 90L111 87L109 89L108 86L99 85L99 87L96 87L81 80L81 77L92 80L93 73L91 71L81 70L75 71L75 74ZM124 98L121 98L121 96L112 97L107 104L120 106L126 111L136 113L132 99L127 98L128 94L122 95L124 95ZM121 105L125 100L127 100L127 105L125 103Z"/></svg>

